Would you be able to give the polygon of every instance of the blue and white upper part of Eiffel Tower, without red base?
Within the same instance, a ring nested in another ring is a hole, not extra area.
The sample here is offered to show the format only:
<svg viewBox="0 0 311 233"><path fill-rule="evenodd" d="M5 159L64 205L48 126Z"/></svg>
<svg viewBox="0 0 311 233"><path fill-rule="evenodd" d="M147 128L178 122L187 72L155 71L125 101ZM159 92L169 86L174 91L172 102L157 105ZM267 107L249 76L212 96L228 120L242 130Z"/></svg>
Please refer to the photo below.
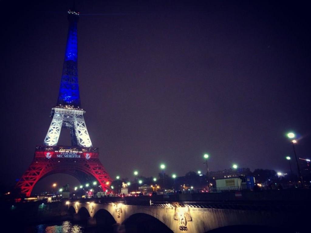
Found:
<svg viewBox="0 0 311 233"><path fill-rule="evenodd" d="M56 146L62 128L71 132L72 146L92 147L81 109L78 69L77 69L77 23L79 13L68 11L68 36L63 65L63 75L59 88L56 107L52 108L53 116L44 145Z"/></svg>

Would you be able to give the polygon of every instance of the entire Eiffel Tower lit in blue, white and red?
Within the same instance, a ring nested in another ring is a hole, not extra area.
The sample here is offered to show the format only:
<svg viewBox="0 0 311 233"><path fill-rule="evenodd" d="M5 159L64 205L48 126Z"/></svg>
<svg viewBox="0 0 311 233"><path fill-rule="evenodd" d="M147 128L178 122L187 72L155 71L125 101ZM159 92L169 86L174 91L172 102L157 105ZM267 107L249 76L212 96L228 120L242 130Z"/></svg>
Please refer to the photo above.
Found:
<svg viewBox="0 0 311 233"><path fill-rule="evenodd" d="M56 107L52 108L52 122L41 146L16 188L30 196L35 184L56 173L76 177L81 184L97 181L104 192L110 190L111 179L99 160L98 148L92 147L81 108L77 69L77 23L79 12L68 11L68 35L63 75ZM59 146L62 128L70 130L71 146Z"/></svg>

